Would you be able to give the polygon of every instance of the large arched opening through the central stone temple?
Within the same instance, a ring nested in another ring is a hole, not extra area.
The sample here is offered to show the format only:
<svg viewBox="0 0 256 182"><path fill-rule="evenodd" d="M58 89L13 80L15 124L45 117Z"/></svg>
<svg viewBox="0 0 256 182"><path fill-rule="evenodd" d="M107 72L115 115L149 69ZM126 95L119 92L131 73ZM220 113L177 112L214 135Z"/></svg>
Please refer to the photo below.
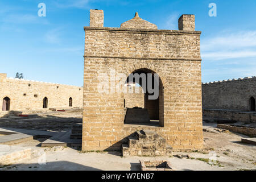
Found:
<svg viewBox="0 0 256 182"><path fill-rule="evenodd" d="M163 84L158 74L137 69L127 77L125 86L125 123L164 126Z"/></svg>

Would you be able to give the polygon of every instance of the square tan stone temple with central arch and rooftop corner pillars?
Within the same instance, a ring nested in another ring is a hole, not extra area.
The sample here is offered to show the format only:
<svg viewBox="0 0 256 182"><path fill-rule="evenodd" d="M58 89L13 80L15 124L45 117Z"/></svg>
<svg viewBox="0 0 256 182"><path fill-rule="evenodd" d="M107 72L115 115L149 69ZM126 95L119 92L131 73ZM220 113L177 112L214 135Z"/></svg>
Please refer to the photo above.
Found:
<svg viewBox="0 0 256 182"><path fill-rule="evenodd" d="M82 150L119 150L139 130L155 131L177 150L203 147L201 32L195 31L195 15L182 15L178 23L179 30L158 30L136 13L119 28L107 28L103 10L90 10L90 26L84 27ZM115 85L124 88L131 73L144 73L149 82L158 75L159 97L149 100L147 89L129 96L116 92ZM142 108L132 108L129 99ZM127 109L134 109L137 123L125 123Z"/></svg>

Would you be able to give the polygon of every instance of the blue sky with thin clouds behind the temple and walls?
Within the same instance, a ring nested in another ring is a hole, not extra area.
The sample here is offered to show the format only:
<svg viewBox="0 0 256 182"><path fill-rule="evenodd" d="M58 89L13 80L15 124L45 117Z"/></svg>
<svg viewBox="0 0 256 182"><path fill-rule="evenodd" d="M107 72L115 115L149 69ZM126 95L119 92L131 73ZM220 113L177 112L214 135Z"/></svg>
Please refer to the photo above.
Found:
<svg viewBox="0 0 256 182"><path fill-rule="evenodd" d="M46 17L38 16L41 2ZM212 2L216 17L208 15ZM104 10L105 27L119 27L138 11L159 29L177 30L181 14L195 14L196 30L202 31L202 81L256 76L255 0L0 0L0 72L82 86L90 9Z"/></svg>

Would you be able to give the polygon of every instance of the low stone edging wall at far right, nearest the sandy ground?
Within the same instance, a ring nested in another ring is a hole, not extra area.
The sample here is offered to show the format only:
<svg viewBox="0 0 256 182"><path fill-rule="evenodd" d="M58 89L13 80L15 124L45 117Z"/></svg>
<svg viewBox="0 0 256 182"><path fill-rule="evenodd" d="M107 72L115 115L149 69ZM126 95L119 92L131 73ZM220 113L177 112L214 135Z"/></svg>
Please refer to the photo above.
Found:
<svg viewBox="0 0 256 182"><path fill-rule="evenodd" d="M248 135L250 137L256 137L256 129L253 127L241 127L241 126L232 126L232 125L223 125L223 124L218 124L217 127L221 129L233 131L236 133Z"/></svg>

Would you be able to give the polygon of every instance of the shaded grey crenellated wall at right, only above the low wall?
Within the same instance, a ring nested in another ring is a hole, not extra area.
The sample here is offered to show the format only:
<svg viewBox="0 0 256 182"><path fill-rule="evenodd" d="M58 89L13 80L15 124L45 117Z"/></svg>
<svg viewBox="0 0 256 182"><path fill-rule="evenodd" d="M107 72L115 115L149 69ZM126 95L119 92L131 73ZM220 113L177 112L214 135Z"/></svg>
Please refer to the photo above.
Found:
<svg viewBox="0 0 256 182"><path fill-rule="evenodd" d="M251 97L256 98L256 77L202 84L203 109L249 111Z"/></svg>

